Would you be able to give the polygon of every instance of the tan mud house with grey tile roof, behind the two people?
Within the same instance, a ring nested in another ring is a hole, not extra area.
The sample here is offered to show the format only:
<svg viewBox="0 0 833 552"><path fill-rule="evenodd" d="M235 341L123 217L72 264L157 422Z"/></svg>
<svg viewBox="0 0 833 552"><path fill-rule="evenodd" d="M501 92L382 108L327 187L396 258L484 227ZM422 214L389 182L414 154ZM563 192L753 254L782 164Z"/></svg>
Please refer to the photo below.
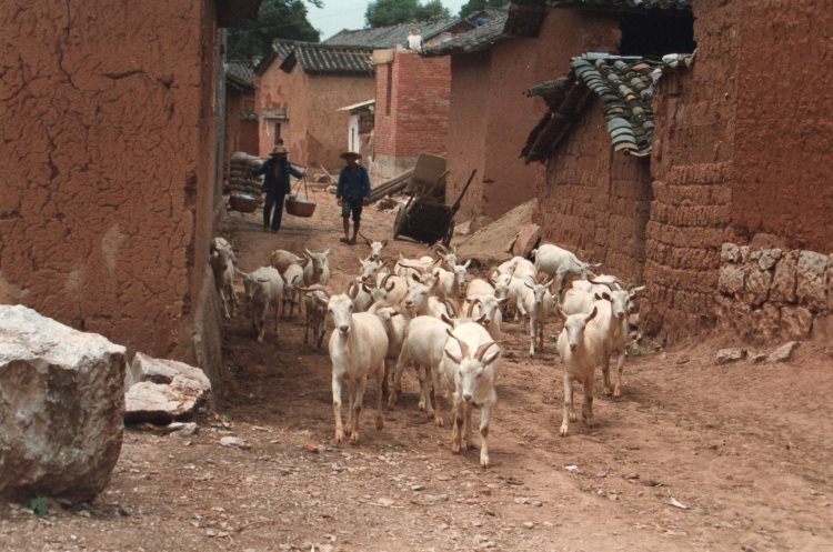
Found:
<svg viewBox="0 0 833 552"><path fill-rule="evenodd" d="M347 116L339 109L373 98L371 53L363 47L275 40L255 68L260 157L281 139L293 163L341 167Z"/></svg>

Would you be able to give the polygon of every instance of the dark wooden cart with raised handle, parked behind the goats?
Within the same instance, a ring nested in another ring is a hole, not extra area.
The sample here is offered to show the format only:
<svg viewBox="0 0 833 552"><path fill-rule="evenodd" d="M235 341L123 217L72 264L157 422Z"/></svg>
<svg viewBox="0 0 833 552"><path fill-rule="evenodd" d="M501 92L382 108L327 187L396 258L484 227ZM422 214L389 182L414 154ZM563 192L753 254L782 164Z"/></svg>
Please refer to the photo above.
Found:
<svg viewBox="0 0 833 552"><path fill-rule="evenodd" d="M397 213L397 220L393 222L393 239L407 235L429 245L442 240L441 243L448 247L454 235L454 215L476 172L476 169L471 172L463 191L451 205L432 199L428 189L414 191L408 203Z"/></svg>

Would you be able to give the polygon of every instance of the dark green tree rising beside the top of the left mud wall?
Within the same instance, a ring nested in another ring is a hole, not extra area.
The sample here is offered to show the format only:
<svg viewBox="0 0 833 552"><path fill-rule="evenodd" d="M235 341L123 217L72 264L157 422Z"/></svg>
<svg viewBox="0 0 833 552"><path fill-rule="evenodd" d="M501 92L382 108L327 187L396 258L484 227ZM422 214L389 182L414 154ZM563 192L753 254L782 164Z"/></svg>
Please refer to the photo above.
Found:
<svg viewBox="0 0 833 552"><path fill-rule="evenodd" d="M308 0L321 8L322 0ZM274 39L318 42L321 34L307 19L303 0L263 0L258 20L244 19L229 29L229 59L265 56Z"/></svg>

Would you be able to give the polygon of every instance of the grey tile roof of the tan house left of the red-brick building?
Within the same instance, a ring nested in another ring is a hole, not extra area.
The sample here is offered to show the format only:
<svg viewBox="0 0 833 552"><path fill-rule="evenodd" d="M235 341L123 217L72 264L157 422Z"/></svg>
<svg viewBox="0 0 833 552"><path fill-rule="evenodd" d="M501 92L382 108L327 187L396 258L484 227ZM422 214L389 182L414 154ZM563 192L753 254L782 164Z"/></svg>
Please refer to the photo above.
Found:
<svg viewBox="0 0 833 552"><path fill-rule="evenodd" d="M295 64L308 74L373 76L370 48L338 47L313 42L293 42L291 53L281 70L291 71Z"/></svg>

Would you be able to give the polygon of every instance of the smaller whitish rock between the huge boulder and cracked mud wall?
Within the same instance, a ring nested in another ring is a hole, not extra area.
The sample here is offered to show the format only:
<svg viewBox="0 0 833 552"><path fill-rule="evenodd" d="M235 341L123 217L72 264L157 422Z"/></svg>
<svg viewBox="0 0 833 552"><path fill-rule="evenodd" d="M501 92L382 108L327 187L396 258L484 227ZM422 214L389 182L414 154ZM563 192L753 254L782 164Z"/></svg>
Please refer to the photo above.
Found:
<svg viewBox="0 0 833 552"><path fill-rule="evenodd" d="M211 382L199 368L143 353L136 353L127 387L128 423L188 420L211 391Z"/></svg>

